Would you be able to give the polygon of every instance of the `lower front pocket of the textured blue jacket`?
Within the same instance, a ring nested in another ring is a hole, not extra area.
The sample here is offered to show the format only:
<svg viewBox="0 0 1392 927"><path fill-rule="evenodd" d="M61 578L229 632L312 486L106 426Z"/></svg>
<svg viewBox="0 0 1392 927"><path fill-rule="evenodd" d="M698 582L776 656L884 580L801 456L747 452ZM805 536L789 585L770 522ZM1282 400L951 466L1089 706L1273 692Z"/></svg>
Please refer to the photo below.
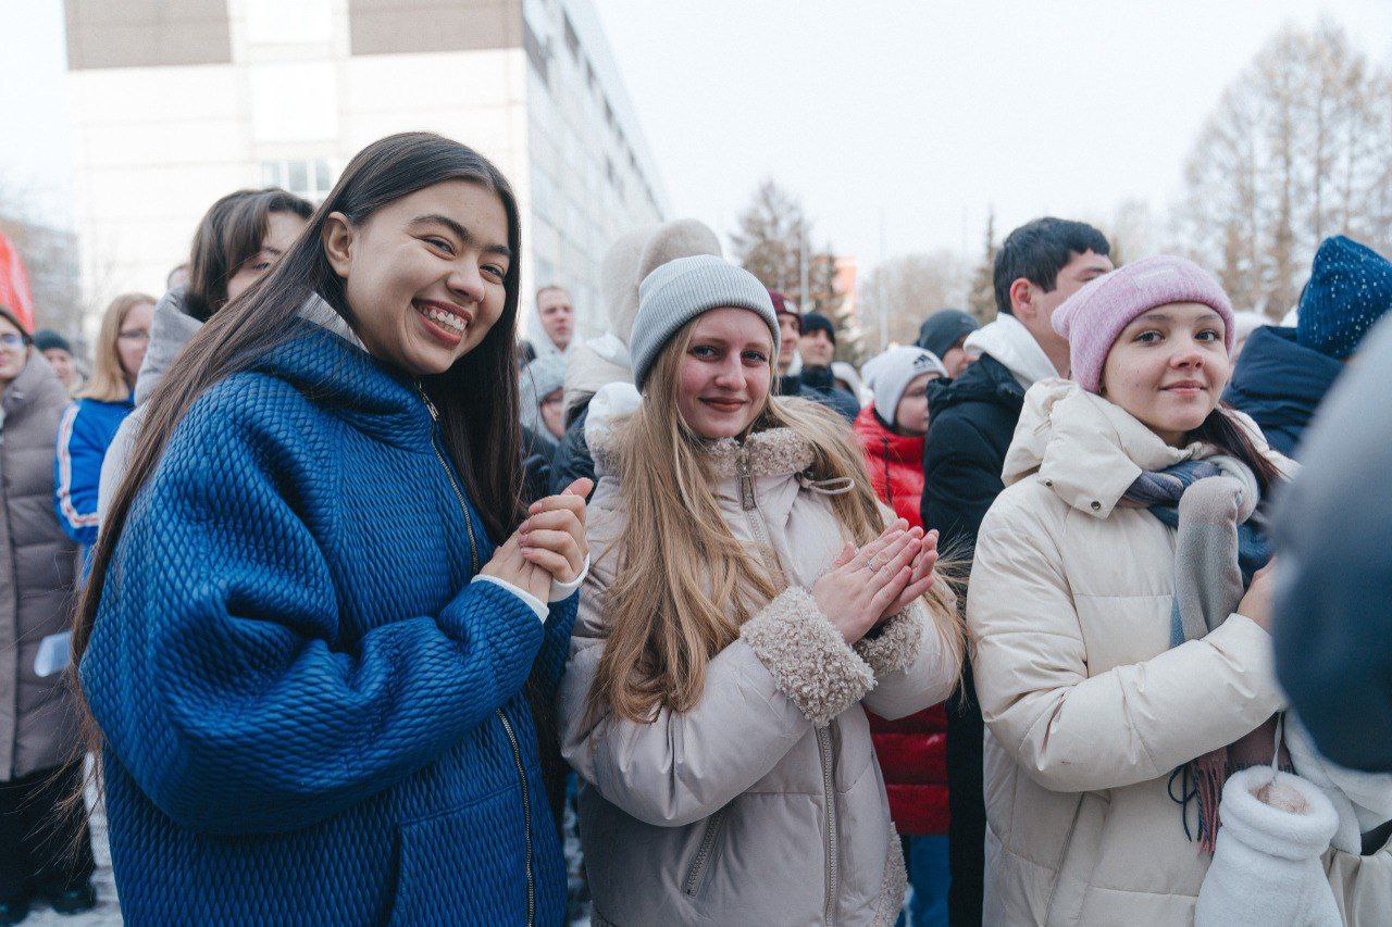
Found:
<svg viewBox="0 0 1392 927"><path fill-rule="evenodd" d="M526 916L522 792L508 788L400 830L393 924L521 923Z"/></svg>

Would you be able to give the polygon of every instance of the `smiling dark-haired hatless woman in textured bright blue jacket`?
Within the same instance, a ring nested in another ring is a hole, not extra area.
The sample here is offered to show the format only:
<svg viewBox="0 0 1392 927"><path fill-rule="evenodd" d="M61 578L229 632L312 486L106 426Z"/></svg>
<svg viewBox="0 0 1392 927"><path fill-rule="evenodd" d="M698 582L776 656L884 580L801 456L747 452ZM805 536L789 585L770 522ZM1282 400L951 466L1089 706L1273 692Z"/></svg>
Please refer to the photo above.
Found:
<svg viewBox="0 0 1392 927"><path fill-rule="evenodd" d="M519 238L470 149L374 142L156 388L74 637L132 923L562 917L589 486L519 511Z"/></svg>

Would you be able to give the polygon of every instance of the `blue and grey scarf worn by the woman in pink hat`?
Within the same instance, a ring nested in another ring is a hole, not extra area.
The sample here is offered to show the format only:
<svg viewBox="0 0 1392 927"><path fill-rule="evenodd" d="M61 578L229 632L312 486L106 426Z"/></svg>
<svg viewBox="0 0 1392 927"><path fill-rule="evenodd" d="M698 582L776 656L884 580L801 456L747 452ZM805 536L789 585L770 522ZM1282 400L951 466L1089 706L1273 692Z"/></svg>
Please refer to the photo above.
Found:
<svg viewBox="0 0 1392 927"><path fill-rule="evenodd" d="M1258 516L1242 521L1242 484L1211 461L1186 461L1160 472L1141 473L1123 505L1146 508L1178 530L1175 543L1175 599L1171 605L1171 647L1204 637L1228 619L1242 601L1251 575L1271 560L1271 544ZM1218 837L1218 803L1228 775L1258 763L1271 763L1276 718L1228 747L1186 763L1169 778L1189 830L1189 803L1199 800L1199 845L1212 853ZM1283 753L1283 750L1282 750ZM1289 756L1282 767L1290 768ZM1179 779L1179 795L1175 781Z"/></svg>

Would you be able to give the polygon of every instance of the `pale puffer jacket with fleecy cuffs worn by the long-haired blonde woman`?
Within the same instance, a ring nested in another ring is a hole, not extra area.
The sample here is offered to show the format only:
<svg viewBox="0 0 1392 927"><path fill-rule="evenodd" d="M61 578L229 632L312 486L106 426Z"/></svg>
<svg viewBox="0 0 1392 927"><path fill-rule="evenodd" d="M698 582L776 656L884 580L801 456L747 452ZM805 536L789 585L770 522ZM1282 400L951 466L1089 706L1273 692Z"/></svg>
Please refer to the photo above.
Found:
<svg viewBox="0 0 1392 927"><path fill-rule="evenodd" d="M594 450L603 465L606 448ZM792 430L743 448L720 441L710 455L725 523L770 547L791 585L710 661L695 708L650 724L590 718L626 518L622 487L600 482L560 700L594 920L892 924L903 860L862 704L887 718L935 704L960 658L922 603L855 649L818 610L809 590L844 541L827 497L802 476L812 450Z"/></svg>

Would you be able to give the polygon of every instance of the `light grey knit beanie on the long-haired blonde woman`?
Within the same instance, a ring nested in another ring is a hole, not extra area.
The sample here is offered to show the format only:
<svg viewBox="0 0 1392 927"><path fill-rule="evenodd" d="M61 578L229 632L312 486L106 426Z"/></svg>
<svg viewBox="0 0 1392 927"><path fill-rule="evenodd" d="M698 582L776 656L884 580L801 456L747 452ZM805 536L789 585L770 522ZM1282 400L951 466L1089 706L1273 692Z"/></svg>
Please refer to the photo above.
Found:
<svg viewBox="0 0 1392 927"><path fill-rule="evenodd" d="M749 309L768 326L778 347L778 317L768 291L748 270L714 255L668 260L638 287L638 317L629 337L633 384L642 390L657 355L682 326L711 309Z"/></svg>

